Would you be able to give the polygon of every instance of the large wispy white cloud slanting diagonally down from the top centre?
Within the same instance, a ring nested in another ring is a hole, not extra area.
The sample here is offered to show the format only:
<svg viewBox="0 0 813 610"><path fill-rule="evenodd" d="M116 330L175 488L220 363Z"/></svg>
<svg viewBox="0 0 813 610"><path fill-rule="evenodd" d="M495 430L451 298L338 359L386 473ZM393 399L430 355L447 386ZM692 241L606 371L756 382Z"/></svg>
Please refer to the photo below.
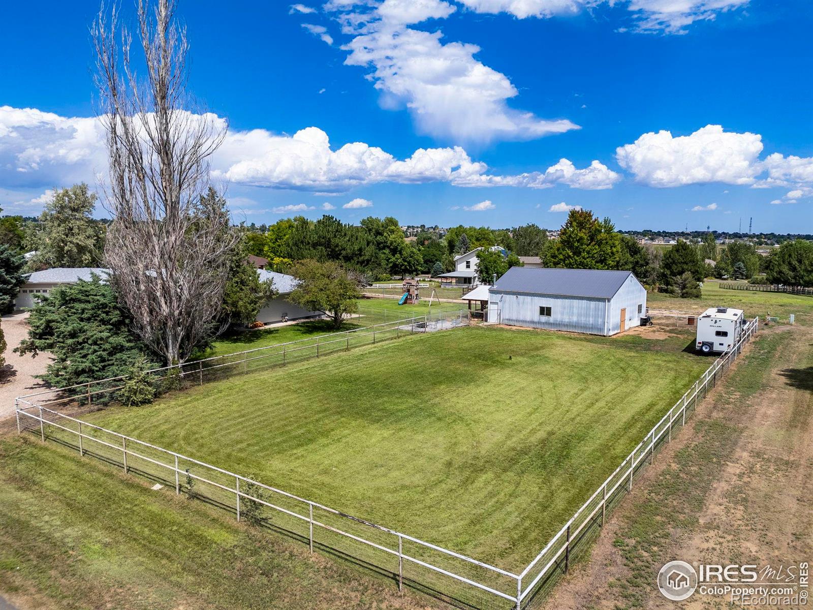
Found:
<svg viewBox="0 0 813 610"><path fill-rule="evenodd" d="M441 0L387 0L358 6L333 2L337 20L354 37L342 49L347 65L371 68L382 107L406 108L420 133L452 142L533 140L579 129L508 106L519 93L509 78L475 59L480 47L442 42L443 33L409 28L442 19L454 6ZM341 9L345 9L341 11Z"/></svg>

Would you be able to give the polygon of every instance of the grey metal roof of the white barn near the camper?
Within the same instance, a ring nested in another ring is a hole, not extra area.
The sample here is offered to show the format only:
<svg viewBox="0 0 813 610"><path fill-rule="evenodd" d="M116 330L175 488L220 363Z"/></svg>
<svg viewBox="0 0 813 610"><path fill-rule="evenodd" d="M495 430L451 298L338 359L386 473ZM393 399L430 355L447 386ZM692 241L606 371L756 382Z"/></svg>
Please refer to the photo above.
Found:
<svg viewBox="0 0 813 610"><path fill-rule="evenodd" d="M613 298L631 275L629 271L511 267L493 285L491 292Z"/></svg>

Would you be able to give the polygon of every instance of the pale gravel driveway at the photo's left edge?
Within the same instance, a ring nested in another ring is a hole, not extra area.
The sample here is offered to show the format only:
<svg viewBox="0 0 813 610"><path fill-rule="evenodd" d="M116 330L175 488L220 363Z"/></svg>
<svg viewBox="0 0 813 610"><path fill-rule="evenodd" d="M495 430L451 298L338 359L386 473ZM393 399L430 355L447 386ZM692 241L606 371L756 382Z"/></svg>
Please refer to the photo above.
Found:
<svg viewBox="0 0 813 610"><path fill-rule="evenodd" d="M28 337L28 312L2 316L2 332L6 335L6 366L0 368L0 420L14 415L14 399L23 394L32 394L44 384L34 377L45 373L50 362L48 354L40 353L37 358L31 355L18 355L13 350L20 341Z"/></svg>

